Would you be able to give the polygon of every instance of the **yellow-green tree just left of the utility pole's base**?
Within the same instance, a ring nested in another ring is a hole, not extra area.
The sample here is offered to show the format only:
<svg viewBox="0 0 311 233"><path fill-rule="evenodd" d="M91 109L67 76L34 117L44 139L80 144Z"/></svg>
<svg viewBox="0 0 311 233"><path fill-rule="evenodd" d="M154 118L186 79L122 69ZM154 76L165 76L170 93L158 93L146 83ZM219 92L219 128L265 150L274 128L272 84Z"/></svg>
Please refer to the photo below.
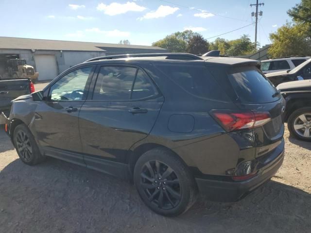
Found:
<svg viewBox="0 0 311 233"><path fill-rule="evenodd" d="M229 49L225 54L229 56L247 55L256 52L255 43L251 42L249 35L243 34L241 38L228 41Z"/></svg>

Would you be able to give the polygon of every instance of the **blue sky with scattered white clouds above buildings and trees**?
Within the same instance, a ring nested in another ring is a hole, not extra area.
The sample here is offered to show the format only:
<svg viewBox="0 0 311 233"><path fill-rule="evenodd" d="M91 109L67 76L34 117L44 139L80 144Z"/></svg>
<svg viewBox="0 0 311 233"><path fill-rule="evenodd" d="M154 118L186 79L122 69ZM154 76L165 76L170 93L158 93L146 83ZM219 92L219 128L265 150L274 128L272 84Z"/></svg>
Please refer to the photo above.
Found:
<svg viewBox="0 0 311 233"><path fill-rule="evenodd" d="M254 22L256 0L0 0L0 36L131 44L152 42L192 29L205 38ZM258 41L269 44L269 33L291 20L286 11L300 0L261 0ZM186 6L186 7L184 7ZM229 18L228 18L229 17ZM221 37L236 39L255 25ZM208 39L213 41L215 38Z"/></svg>

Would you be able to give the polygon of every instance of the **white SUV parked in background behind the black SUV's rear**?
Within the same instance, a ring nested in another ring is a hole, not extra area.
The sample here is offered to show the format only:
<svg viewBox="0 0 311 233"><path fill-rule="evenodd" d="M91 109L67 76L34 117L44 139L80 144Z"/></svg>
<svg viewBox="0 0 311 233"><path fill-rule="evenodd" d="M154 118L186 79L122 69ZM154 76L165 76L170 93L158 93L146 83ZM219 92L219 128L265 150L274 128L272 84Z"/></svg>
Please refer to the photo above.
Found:
<svg viewBox="0 0 311 233"><path fill-rule="evenodd" d="M311 57L280 57L261 61L260 69L264 74L294 69Z"/></svg>

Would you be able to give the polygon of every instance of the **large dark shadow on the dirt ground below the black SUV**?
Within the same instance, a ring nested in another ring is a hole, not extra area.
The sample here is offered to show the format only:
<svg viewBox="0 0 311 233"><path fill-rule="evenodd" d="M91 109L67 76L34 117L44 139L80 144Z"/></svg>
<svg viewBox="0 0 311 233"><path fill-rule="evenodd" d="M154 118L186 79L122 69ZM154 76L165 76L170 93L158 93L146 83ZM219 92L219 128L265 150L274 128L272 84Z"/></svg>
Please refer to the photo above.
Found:
<svg viewBox="0 0 311 233"><path fill-rule="evenodd" d="M310 232L311 194L269 182L241 201L200 197L178 217L150 211L135 187L56 159L0 172L0 232Z"/></svg>

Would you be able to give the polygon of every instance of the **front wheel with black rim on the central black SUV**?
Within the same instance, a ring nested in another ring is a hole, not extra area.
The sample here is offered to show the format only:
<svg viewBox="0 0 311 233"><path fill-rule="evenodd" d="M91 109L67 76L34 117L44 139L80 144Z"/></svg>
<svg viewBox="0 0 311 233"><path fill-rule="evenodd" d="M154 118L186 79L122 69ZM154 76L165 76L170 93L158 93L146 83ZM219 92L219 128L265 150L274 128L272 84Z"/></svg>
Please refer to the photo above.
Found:
<svg viewBox="0 0 311 233"><path fill-rule="evenodd" d="M17 125L14 130L13 141L19 158L25 164L36 165L44 161L45 156L40 153L35 138L26 125Z"/></svg>

